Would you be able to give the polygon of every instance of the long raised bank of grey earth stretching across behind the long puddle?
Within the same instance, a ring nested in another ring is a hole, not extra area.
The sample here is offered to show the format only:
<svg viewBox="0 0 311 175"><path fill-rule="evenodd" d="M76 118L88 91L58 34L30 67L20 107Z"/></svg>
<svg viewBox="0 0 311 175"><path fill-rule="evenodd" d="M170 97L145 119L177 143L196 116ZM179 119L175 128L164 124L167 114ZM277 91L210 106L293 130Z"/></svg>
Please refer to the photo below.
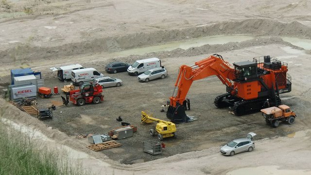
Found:
<svg viewBox="0 0 311 175"><path fill-rule="evenodd" d="M298 23L280 23L275 20L249 19L241 22L222 22L211 26L190 27L181 30L140 32L124 36L97 38L79 43L70 43L55 47L38 47L32 44L16 44L16 47L2 50L2 63L52 59L69 55L115 52L129 48L150 46L170 41L185 40L218 34L255 34L304 36L311 38L311 29Z"/></svg>

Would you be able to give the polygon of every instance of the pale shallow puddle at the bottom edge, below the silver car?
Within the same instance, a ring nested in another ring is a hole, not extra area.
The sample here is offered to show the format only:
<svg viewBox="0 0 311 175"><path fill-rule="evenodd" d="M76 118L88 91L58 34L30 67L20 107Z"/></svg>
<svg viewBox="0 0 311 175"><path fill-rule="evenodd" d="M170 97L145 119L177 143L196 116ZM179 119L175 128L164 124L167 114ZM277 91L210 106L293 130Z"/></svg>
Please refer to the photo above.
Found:
<svg viewBox="0 0 311 175"><path fill-rule="evenodd" d="M250 173L252 172L252 173ZM228 172L226 175L310 175L307 170L279 170L278 166L259 166L241 168Z"/></svg>

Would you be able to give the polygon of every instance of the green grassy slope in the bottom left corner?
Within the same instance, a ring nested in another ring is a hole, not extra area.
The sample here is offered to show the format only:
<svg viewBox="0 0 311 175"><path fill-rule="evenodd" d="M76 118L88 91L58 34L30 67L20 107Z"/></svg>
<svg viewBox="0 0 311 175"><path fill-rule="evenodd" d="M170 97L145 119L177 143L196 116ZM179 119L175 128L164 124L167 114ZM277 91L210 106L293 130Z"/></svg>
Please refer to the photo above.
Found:
<svg viewBox="0 0 311 175"><path fill-rule="evenodd" d="M33 143L1 122L0 148L0 175L87 175L59 152Z"/></svg>

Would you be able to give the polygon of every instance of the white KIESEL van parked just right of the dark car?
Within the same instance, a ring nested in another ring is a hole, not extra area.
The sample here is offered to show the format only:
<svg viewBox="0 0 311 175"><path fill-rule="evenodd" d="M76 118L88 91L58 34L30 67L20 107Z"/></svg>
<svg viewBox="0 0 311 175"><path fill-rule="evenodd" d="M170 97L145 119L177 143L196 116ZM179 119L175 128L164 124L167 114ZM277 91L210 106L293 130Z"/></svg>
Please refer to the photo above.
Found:
<svg viewBox="0 0 311 175"><path fill-rule="evenodd" d="M144 60L137 60L127 68L129 75L138 76L138 74L144 73L148 69L161 67L161 60L158 58L148 58Z"/></svg>

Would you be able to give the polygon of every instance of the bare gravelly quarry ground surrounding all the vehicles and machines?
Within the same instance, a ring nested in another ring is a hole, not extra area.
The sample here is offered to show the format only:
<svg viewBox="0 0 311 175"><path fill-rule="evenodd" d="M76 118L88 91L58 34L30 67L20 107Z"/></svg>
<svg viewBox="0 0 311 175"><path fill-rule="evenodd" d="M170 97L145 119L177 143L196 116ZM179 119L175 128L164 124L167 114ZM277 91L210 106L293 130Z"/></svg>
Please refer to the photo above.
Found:
<svg viewBox="0 0 311 175"><path fill-rule="evenodd" d="M2 0L1 89L10 82L9 70L18 67L42 71L47 87L64 84L48 68L71 63L104 73L104 65L110 61L131 63L159 57L170 75L149 83L138 83L126 72L109 75L122 79L124 85L104 89L105 99L99 105L57 108L52 121L38 121L0 99L2 122L17 129L27 127L30 135L36 130L35 142L69 150L74 160L102 175L311 175L311 51L281 39L311 39L310 12L310 0ZM121 55L131 48L231 34L254 39ZM227 109L216 109L213 99L225 92L225 86L211 77L193 83L188 94L193 105L188 114L198 120L178 125L177 139L165 141L167 148L162 155L144 154L140 143L150 139L150 126L140 125L140 111L150 110L166 119L159 112L160 105L173 92L178 67L213 53L223 55L229 63L262 55L288 63L293 89L281 98L297 113L295 124L272 128L264 124L260 113L236 117ZM38 107L47 108L59 99L38 99ZM119 115L138 126L134 137L120 140L122 147L93 152L86 148L86 139L75 138L78 133L101 133L116 127L115 116ZM253 152L234 157L219 153L220 145L249 131L258 134Z"/></svg>

